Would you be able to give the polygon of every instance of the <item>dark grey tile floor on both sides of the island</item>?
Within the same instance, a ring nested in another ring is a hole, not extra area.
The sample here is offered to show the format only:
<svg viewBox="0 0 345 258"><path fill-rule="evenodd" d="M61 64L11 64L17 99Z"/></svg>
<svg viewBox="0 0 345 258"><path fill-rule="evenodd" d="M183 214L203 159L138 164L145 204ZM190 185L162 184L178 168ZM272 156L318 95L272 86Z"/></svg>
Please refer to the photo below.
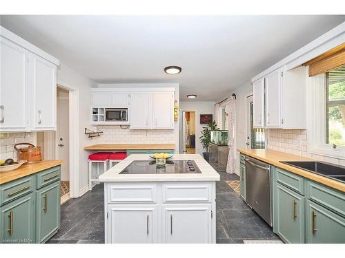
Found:
<svg viewBox="0 0 345 258"><path fill-rule="evenodd" d="M217 243L244 239L277 239L264 220L251 210L225 180L238 179L224 172L217 182ZM61 228L47 243L104 243L103 184L61 206Z"/></svg>

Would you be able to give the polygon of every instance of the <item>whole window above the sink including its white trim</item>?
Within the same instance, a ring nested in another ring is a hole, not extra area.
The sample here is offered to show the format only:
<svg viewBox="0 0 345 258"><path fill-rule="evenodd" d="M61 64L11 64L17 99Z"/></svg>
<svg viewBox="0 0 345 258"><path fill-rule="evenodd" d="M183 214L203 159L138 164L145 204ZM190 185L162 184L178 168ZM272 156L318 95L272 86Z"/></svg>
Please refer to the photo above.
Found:
<svg viewBox="0 0 345 258"><path fill-rule="evenodd" d="M311 76L307 85L307 151L344 159L345 67Z"/></svg>

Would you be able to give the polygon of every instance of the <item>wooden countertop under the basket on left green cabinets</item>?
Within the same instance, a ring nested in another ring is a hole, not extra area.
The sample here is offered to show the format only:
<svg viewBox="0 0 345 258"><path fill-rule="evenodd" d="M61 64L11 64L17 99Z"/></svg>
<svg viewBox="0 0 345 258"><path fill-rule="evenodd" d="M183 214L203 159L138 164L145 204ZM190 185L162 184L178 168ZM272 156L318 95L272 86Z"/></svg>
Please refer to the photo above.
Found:
<svg viewBox="0 0 345 258"><path fill-rule="evenodd" d="M27 175L32 175L45 169L50 169L53 166L62 164L62 162L62 160L42 160L37 163L23 164L18 169L0 173L0 184L23 178Z"/></svg>

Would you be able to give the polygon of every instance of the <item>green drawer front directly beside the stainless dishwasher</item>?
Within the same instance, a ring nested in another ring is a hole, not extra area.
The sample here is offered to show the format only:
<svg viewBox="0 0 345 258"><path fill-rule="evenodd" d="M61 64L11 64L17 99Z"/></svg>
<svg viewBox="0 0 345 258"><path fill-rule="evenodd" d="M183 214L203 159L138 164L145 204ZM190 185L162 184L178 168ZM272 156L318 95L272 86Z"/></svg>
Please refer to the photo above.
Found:
<svg viewBox="0 0 345 258"><path fill-rule="evenodd" d="M279 169L275 167L275 180L279 184L283 184L284 186L304 195L304 178L300 177L299 175L295 175L294 173L290 173L285 171L284 169Z"/></svg>

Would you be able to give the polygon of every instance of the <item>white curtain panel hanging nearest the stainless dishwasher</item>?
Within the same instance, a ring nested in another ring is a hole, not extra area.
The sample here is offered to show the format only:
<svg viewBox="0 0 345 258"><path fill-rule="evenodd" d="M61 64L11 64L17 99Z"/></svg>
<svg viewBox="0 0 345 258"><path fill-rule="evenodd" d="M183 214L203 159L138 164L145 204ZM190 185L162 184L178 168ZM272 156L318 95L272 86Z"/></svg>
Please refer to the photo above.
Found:
<svg viewBox="0 0 345 258"><path fill-rule="evenodd" d="M235 173L235 98L230 98L226 104L226 112L228 113L228 164L226 166L227 173Z"/></svg>

